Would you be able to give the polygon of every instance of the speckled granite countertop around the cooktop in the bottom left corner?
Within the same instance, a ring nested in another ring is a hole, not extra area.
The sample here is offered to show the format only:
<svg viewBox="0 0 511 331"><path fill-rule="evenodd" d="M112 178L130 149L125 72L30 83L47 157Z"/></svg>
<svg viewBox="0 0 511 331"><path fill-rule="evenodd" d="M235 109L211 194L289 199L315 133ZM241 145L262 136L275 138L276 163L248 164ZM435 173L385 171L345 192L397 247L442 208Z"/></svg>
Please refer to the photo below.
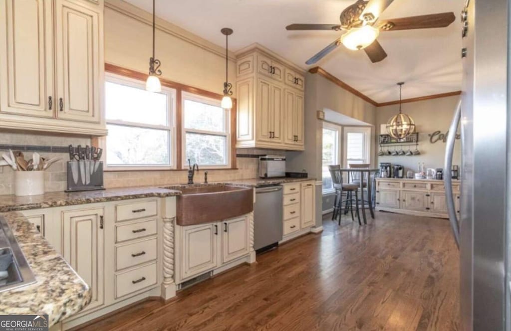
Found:
<svg viewBox="0 0 511 331"><path fill-rule="evenodd" d="M36 282L0 292L0 314L48 314L49 325L80 312L91 298L85 281L20 212L0 213L9 223Z"/></svg>

